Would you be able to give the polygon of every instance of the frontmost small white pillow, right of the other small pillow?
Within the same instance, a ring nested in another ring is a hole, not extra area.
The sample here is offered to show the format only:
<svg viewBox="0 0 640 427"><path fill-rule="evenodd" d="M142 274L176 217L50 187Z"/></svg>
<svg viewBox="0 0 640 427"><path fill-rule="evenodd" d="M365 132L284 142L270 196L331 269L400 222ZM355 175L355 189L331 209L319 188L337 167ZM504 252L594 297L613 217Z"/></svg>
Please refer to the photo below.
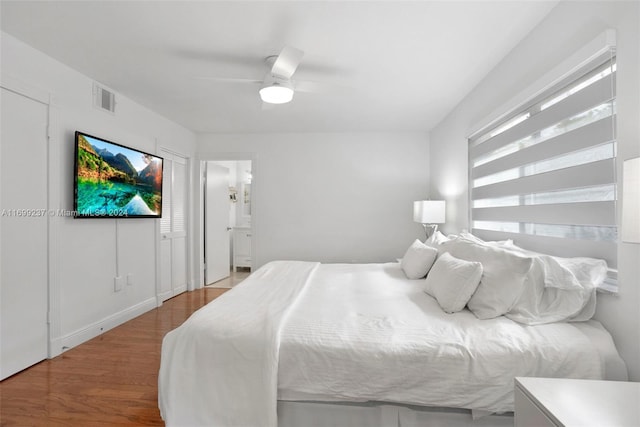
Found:
<svg viewBox="0 0 640 427"><path fill-rule="evenodd" d="M427 275L424 291L434 297L447 313L464 308L482 277L482 264L444 253Z"/></svg>

